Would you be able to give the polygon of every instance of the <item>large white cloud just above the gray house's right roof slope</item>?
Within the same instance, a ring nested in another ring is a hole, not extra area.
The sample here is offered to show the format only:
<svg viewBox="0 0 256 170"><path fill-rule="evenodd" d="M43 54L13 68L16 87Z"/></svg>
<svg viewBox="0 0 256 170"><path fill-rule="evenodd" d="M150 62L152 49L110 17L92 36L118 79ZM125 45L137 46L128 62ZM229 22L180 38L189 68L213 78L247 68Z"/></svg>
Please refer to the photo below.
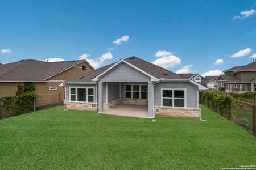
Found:
<svg viewBox="0 0 256 170"><path fill-rule="evenodd" d="M163 67L164 69L167 69L168 67L173 67L173 66L179 65L181 63L181 59L179 57L171 55L168 57L158 58L151 63L158 65L160 67Z"/></svg>

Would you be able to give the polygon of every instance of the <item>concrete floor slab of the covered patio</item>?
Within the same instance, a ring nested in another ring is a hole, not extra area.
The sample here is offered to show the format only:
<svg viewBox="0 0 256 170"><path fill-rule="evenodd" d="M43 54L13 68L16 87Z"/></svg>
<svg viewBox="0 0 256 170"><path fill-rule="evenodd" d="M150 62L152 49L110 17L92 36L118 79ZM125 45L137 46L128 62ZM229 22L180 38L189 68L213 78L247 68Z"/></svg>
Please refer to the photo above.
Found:
<svg viewBox="0 0 256 170"><path fill-rule="evenodd" d="M148 118L147 105L119 104L114 108L104 111L103 114L112 114L117 116L129 116Z"/></svg>

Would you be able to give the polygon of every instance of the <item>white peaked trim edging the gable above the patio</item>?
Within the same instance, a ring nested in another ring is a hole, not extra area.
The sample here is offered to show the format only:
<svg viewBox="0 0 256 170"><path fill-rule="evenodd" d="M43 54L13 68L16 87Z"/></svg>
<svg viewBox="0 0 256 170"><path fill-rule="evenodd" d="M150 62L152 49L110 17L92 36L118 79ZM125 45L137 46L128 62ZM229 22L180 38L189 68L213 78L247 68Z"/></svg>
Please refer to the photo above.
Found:
<svg viewBox="0 0 256 170"><path fill-rule="evenodd" d="M124 59L121 59L121 60L119 60L118 62L116 62L113 66L109 67L109 68L106 69L104 72L102 72L100 75L98 75L98 76L96 76L95 78L93 78L92 81L94 81L94 82L98 81L98 79L99 79L102 75L104 75L104 74L108 73L108 71L114 69L114 67L117 66L117 65L119 65L119 63L121 63L121 62L126 63L127 65L133 67L134 69L140 71L141 73L143 73L143 74L149 76L149 77L151 78L151 81L152 81L152 82L153 82L153 81L159 81L158 78L155 78L155 77L152 76L151 74L148 74L146 71L143 71L143 70L139 69L138 67L132 65L131 63L125 61Z"/></svg>

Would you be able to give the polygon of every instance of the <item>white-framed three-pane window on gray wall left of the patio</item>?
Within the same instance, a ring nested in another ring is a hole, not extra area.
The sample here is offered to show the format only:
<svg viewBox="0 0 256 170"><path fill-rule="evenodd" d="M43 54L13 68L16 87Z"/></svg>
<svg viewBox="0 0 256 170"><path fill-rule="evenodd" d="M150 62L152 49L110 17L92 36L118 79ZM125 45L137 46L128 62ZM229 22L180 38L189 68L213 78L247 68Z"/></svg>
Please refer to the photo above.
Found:
<svg viewBox="0 0 256 170"><path fill-rule="evenodd" d="M95 103L94 87L69 87L69 101Z"/></svg>

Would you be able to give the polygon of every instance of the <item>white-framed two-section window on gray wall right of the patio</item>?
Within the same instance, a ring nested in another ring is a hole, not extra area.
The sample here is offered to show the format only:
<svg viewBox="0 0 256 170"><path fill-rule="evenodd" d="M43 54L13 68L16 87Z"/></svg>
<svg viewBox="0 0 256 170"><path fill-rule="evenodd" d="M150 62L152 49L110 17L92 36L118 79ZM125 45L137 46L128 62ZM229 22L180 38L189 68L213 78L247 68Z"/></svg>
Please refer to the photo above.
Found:
<svg viewBox="0 0 256 170"><path fill-rule="evenodd" d="M161 106L187 108L187 89L161 88Z"/></svg>

